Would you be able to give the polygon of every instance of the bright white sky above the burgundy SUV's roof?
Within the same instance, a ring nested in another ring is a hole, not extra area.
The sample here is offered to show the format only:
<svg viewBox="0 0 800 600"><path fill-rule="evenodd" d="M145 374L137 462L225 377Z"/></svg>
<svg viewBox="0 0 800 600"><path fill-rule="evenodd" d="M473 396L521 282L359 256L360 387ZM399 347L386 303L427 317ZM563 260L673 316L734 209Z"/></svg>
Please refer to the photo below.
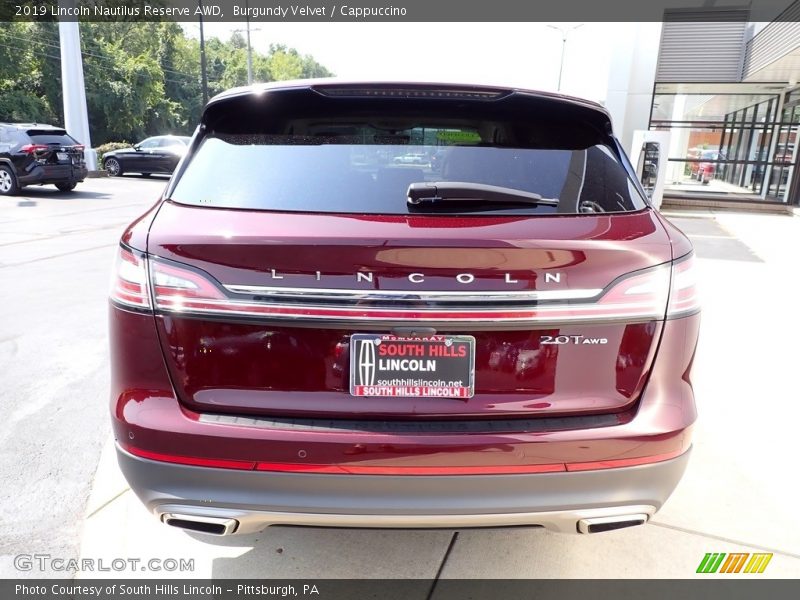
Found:
<svg viewBox="0 0 800 600"><path fill-rule="evenodd" d="M251 23L251 43L311 54L346 79L400 79L518 86L557 91L562 35L545 23ZM570 30L563 93L603 101L613 23L553 23ZM576 28L577 25L580 25ZM190 35L198 26L185 24ZM228 39L244 23L206 23L207 37Z"/></svg>

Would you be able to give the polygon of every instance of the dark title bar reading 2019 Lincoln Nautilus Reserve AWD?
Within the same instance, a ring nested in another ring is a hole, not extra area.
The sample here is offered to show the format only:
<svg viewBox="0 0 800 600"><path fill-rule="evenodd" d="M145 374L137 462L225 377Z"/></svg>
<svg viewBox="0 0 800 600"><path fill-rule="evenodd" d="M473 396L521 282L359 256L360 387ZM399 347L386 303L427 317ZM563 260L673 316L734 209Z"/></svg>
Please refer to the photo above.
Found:
<svg viewBox="0 0 800 600"><path fill-rule="evenodd" d="M793 0L0 0L0 21L800 21ZM442 35L458 35L443 30ZM413 39L409 38L409 40ZM477 43L480 40L476 40ZM414 40L424 43L424 40Z"/></svg>

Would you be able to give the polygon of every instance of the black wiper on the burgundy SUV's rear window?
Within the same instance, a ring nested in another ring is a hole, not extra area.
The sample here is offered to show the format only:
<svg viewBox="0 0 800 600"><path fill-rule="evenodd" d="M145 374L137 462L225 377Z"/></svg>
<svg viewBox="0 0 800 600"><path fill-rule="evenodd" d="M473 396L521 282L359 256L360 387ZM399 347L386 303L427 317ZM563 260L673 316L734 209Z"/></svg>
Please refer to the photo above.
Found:
<svg viewBox="0 0 800 600"><path fill-rule="evenodd" d="M434 205L439 202L497 202L499 204L532 204L558 206L557 198L499 185L465 181L422 181L408 186L408 204Z"/></svg>

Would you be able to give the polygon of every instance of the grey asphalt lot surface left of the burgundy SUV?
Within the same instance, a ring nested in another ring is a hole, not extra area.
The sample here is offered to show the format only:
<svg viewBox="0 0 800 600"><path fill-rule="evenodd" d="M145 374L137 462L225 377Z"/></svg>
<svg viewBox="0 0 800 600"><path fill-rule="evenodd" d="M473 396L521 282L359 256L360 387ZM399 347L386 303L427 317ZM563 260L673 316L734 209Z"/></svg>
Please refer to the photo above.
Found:
<svg viewBox="0 0 800 600"><path fill-rule="evenodd" d="M20 553L77 556L108 438L106 296L120 233L166 179L0 196L0 577ZM45 573L47 574L47 572Z"/></svg>

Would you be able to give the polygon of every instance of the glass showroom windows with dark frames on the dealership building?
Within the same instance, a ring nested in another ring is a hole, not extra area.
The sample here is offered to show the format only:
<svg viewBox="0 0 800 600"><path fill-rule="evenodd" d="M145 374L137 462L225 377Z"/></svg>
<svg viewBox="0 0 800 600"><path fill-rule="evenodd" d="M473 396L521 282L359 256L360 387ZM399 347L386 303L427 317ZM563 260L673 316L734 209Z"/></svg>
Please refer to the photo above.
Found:
<svg viewBox="0 0 800 600"><path fill-rule="evenodd" d="M779 119L775 89L657 84L650 126L671 132L666 190L787 202L800 96L794 102L787 96Z"/></svg>

